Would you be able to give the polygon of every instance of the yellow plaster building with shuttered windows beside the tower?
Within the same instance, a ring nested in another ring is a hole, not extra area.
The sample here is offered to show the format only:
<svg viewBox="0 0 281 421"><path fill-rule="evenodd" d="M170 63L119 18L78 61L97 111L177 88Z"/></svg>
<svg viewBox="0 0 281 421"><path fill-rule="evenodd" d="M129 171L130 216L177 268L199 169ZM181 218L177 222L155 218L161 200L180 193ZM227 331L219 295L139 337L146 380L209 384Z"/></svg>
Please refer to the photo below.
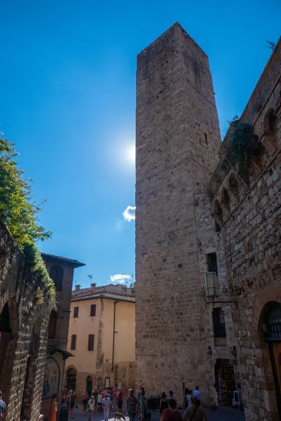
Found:
<svg viewBox="0 0 281 421"><path fill-rule="evenodd" d="M135 381L135 295L124 285L72 291L66 385L80 399L86 389L133 387Z"/></svg>

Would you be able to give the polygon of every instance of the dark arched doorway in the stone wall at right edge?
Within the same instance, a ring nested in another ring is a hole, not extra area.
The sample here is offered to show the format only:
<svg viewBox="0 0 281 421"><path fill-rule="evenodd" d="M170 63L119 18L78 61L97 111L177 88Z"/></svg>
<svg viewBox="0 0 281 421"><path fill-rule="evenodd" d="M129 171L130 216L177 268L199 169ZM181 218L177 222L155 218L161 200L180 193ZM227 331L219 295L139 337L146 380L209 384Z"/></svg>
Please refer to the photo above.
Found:
<svg viewBox="0 0 281 421"><path fill-rule="evenodd" d="M281 304L268 302L263 310L263 334L268 342L270 361L273 370L277 407L281 420Z"/></svg>

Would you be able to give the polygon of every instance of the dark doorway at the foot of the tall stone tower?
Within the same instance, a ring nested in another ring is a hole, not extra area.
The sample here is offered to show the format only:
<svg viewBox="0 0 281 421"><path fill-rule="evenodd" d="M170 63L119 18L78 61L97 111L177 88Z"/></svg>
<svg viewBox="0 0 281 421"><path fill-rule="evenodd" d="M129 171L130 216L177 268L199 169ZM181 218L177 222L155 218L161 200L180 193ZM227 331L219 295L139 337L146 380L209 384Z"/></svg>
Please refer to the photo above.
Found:
<svg viewBox="0 0 281 421"><path fill-rule="evenodd" d="M217 359L215 364L216 396L218 405L232 406L235 387L233 365L229 359Z"/></svg>

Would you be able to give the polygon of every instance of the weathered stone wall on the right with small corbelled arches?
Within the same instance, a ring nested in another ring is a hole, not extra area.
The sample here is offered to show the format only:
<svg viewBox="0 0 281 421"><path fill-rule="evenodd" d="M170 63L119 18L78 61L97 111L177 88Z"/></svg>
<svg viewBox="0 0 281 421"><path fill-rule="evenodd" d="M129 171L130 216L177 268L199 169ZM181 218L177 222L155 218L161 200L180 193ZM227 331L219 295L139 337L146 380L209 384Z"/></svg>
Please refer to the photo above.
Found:
<svg viewBox="0 0 281 421"><path fill-rule="evenodd" d="M212 213L221 225L228 290L235 301L232 319L245 415L259 421L279 419L262 325L266 305L281 302L280 74L281 41L240 118L252 124L259 138L249 175L227 163L223 145L211 180Z"/></svg>

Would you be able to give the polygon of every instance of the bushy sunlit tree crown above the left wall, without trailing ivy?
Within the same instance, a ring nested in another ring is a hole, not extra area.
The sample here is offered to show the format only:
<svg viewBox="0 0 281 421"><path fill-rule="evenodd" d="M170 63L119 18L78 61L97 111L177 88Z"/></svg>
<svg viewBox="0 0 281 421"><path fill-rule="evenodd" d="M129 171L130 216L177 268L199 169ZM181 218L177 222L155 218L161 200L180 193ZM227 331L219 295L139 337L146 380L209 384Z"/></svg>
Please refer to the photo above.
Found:
<svg viewBox="0 0 281 421"><path fill-rule="evenodd" d="M39 225L41 206L34 203L30 182L17 167L15 145L0 138L0 217L21 249L51 237Z"/></svg>

